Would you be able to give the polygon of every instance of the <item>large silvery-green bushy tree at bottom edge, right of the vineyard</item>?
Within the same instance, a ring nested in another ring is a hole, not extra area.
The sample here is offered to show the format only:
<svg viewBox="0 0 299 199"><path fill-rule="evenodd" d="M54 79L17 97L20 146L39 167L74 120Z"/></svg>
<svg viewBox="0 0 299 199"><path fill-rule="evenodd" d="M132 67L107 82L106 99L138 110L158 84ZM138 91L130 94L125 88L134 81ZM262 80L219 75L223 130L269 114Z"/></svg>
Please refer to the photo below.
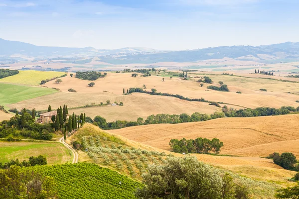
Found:
<svg viewBox="0 0 299 199"><path fill-rule="evenodd" d="M250 199L248 187L194 156L168 157L165 164L149 165L148 170L138 199Z"/></svg>

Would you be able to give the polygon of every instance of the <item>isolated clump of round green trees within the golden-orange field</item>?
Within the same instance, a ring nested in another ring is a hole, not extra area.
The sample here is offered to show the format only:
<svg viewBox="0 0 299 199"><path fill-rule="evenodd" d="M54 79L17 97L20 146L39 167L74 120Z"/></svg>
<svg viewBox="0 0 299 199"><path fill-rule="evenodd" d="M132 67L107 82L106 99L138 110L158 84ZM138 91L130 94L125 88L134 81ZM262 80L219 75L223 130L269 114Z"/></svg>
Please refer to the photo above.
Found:
<svg viewBox="0 0 299 199"><path fill-rule="evenodd" d="M185 138L171 139L169 146L175 153L209 153L213 151L215 154L220 152L220 148L223 147L223 142L219 139L213 138L209 140L207 138L198 137L195 140L187 140Z"/></svg>

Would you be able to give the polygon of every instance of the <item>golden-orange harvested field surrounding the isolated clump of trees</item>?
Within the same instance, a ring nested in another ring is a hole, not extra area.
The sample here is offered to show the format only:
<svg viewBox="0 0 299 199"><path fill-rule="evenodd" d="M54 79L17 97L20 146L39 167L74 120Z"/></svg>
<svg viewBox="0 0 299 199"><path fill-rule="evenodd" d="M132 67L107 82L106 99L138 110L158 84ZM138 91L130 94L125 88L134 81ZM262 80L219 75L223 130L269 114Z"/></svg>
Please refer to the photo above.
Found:
<svg viewBox="0 0 299 199"><path fill-rule="evenodd" d="M299 115L219 118L205 122L134 126L110 133L160 149L170 150L171 139L218 138L221 154L263 156L292 152L299 157Z"/></svg>

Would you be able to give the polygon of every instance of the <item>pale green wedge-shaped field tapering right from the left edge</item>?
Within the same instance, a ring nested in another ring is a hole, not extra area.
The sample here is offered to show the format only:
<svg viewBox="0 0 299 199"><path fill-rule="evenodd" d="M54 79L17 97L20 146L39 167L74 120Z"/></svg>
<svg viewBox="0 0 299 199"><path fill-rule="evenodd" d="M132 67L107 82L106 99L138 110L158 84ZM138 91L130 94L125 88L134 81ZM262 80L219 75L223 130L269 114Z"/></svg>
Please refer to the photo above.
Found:
<svg viewBox="0 0 299 199"><path fill-rule="evenodd" d="M29 100L56 92L58 91L42 87L28 87L0 83L0 104L16 103L18 101Z"/></svg>

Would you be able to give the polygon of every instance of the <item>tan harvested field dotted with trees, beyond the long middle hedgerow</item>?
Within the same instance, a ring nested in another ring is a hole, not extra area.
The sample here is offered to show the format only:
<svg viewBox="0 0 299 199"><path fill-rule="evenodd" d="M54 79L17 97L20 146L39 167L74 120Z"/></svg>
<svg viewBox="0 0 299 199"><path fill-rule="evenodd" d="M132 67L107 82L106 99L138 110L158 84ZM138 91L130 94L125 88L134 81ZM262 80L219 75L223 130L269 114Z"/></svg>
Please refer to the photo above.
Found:
<svg viewBox="0 0 299 199"><path fill-rule="evenodd" d="M146 85L145 90L147 91L156 89L157 92L179 94L188 98L204 98L205 100L210 101L222 101L236 105L239 108L256 108L261 106L279 108L284 105L298 106L296 100L299 100L299 97L298 95L292 94L298 93L298 83L261 78L206 74L214 81L213 85L219 86L218 82L223 81L231 90L231 92L219 92L207 89L206 87L209 86L209 84L204 84L203 87L200 87L200 83L196 82L198 78L182 80L173 77L170 80L169 77L164 77L165 79L163 82L163 77L140 77L140 75L142 74L133 78L131 73L108 73L107 77L93 81L95 83L94 87L88 87L88 83L91 81L80 80L75 77L71 78L68 75L67 77L61 78L62 83L60 84L56 84L55 81L50 81L46 83L45 86L49 88L58 88L66 93L69 93L68 89L72 88L76 90L77 93L81 94L94 94L108 91L110 94L122 95L123 89L127 92L127 89L129 88L143 88L143 85ZM200 76L204 76L204 74L200 74ZM260 89L267 89L268 92L262 92ZM237 91L241 91L242 94L236 94Z"/></svg>

